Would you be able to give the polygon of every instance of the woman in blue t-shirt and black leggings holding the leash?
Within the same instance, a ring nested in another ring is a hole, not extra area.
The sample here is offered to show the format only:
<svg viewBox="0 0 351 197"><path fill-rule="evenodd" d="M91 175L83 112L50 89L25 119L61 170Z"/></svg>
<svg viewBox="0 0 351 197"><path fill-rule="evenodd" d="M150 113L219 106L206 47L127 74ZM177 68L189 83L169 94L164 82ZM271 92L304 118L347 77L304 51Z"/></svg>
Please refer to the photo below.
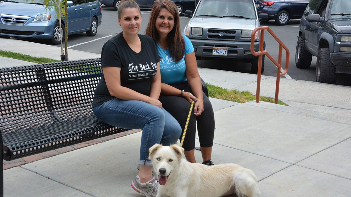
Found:
<svg viewBox="0 0 351 197"><path fill-rule="evenodd" d="M211 161L214 114L210 100L203 92L194 48L190 40L180 34L177 6L170 0L154 3L146 35L153 38L160 56L161 95L163 107L179 122L184 130L190 103L196 101L183 143L184 155L192 163L196 125L198 129L203 164Z"/></svg>

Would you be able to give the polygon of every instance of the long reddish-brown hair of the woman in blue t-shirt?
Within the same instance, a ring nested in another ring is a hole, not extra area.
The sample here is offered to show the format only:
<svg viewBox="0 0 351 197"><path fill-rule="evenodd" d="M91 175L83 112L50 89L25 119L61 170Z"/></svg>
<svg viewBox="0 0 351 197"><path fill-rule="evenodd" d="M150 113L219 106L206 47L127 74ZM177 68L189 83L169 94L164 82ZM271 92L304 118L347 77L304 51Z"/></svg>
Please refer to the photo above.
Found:
<svg viewBox="0 0 351 197"><path fill-rule="evenodd" d="M183 36L180 34L180 25L179 25L179 14L178 8L173 1L170 0L157 0L152 6L149 22L146 27L146 35L150 36L156 43L160 36L158 35L155 22L157 19L160 10L165 8L173 15L174 26L170 33L167 35L167 46L170 49L170 53L173 56L173 59L178 62L183 59L184 50L185 50L185 41Z"/></svg>

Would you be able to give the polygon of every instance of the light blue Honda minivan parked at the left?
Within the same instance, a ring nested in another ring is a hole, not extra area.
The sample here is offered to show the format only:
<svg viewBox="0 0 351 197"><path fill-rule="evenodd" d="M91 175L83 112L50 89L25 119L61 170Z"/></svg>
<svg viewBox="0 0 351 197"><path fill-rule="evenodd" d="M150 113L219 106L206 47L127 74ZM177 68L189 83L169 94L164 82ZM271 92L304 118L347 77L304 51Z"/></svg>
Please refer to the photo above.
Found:
<svg viewBox="0 0 351 197"><path fill-rule="evenodd" d="M50 39L59 44L65 39L65 20L55 19L54 9L45 10L43 0L5 0L0 4L0 36ZM67 1L68 35L86 32L95 36L101 24L98 0Z"/></svg>

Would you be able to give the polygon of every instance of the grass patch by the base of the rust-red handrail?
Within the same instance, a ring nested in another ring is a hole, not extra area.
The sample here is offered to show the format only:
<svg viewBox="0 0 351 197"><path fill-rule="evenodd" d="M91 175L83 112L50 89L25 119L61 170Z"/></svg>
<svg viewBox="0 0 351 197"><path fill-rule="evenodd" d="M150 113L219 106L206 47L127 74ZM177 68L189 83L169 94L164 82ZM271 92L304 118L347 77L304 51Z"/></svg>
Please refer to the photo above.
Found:
<svg viewBox="0 0 351 197"><path fill-rule="evenodd" d="M238 103L246 103L256 100L256 95L251 94L249 91L227 90L226 88L221 88L208 83L206 83L206 85L208 89L208 96L216 99L234 101ZM274 103L274 99L264 96L260 96L260 101ZM278 104L288 106L286 103L280 100L278 100Z"/></svg>

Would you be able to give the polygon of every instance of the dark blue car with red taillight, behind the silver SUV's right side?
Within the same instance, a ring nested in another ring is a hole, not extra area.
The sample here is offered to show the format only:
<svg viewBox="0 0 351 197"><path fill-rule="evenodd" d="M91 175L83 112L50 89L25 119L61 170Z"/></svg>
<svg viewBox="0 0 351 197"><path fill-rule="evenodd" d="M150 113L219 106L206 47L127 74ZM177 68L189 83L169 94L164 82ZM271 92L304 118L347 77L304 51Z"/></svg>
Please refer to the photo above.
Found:
<svg viewBox="0 0 351 197"><path fill-rule="evenodd" d="M286 25L290 19L300 19L309 0L255 0L257 13L268 14L277 25Z"/></svg>

